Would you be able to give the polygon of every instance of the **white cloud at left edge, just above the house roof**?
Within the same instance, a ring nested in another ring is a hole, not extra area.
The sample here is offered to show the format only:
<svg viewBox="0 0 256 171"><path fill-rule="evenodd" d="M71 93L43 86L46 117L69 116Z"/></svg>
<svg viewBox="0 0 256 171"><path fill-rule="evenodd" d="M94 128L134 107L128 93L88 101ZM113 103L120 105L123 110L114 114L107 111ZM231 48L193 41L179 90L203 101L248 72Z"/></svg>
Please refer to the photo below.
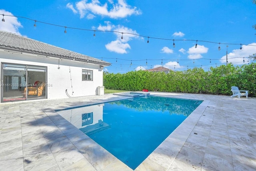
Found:
<svg viewBox="0 0 256 171"><path fill-rule="evenodd" d="M10 15L4 16L5 22L0 22L0 30L21 35L18 28L22 28L22 25L18 21L18 18L11 17L13 14L3 9L0 10L0 14Z"/></svg>

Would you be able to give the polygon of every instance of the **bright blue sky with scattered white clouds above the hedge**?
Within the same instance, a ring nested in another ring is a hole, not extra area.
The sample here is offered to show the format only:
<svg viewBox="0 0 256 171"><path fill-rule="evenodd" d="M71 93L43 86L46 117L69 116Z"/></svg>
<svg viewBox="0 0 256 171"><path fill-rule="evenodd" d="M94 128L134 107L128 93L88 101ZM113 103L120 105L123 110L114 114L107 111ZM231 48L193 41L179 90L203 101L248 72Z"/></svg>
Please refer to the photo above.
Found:
<svg viewBox="0 0 256 171"><path fill-rule="evenodd" d="M105 60L110 73L209 70L226 64L227 51L240 66L256 52L251 0L6 0L2 14L0 30Z"/></svg>

